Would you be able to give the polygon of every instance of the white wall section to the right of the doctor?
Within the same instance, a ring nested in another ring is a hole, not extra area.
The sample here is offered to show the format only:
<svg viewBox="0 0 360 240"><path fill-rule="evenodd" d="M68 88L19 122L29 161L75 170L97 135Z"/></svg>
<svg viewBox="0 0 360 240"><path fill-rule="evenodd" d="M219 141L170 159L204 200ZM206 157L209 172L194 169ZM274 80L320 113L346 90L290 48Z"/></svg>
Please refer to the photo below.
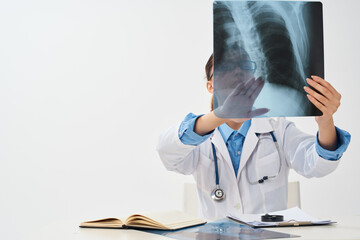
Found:
<svg viewBox="0 0 360 240"><path fill-rule="evenodd" d="M302 207L318 215L360 214L360 22L359 1L323 1L325 77L342 94L335 123L352 135L350 146L338 169L320 179L305 179L291 173L291 180L300 180ZM313 118L291 118L301 129L314 133Z"/></svg>

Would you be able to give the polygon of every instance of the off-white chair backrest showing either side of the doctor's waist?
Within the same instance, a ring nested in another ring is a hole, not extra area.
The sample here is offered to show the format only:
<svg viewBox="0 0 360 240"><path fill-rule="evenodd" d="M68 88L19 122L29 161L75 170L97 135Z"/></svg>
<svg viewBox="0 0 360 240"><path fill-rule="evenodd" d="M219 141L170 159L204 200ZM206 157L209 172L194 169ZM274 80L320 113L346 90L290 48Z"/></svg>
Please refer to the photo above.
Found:
<svg viewBox="0 0 360 240"><path fill-rule="evenodd" d="M292 208L300 204L300 183L289 182L288 183L288 203L287 207ZM194 216L199 215L199 199L197 196L197 189L195 183L184 184L184 195L183 195L183 211L192 214Z"/></svg>

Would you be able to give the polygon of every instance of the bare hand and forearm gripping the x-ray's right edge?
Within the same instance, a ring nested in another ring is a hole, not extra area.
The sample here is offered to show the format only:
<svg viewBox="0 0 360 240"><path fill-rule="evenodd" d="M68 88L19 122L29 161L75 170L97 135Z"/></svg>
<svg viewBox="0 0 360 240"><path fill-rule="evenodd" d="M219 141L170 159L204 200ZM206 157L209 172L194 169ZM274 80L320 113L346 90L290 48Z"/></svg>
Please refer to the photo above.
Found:
<svg viewBox="0 0 360 240"><path fill-rule="evenodd" d="M309 87L304 87L307 97L322 113L322 116L315 117L319 126L319 144L330 151L337 148L337 135L333 115L340 106L341 95L330 83L318 76L311 76L306 81L316 89L315 92Z"/></svg>

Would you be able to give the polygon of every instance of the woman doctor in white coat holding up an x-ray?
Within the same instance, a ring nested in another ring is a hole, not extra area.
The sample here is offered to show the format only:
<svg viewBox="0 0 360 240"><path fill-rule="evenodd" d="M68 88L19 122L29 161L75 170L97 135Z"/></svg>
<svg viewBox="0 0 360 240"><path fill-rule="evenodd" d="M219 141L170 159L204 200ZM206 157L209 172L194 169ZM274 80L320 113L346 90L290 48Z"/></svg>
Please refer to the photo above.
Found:
<svg viewBox="0 0 360 240"><path fill-rule="evenodd" d="M213 93L213 55L205 70L207 90ZM250 80L239 84L229 97L255 101L263 80L251 77L253 72L244 64L234 71ZM290 168L307 178L336 169L350 142L350 134L333 121L341 96L320 77L312 76L307 82L322 94L304 88L309 101L323 113L315 117L316 137L284 118L252 118L266 109L248 110L248 119L222 118L236 109L229 99L218 112L190 113L160 135L157 150L166 169L194 176L202 217L286 209Z"/></svg>

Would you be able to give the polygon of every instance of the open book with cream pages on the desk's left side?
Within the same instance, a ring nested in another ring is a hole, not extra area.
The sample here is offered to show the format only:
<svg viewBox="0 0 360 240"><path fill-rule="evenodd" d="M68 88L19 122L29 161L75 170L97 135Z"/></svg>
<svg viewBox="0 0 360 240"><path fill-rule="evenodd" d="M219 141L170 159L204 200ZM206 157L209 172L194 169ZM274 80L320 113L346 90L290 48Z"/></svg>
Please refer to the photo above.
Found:
<svg viewBox="0 0 360 240"><path fill-rule="evenodd" d="M133 214L125 221L119 218L104 218L80 224L83 228L143 228L158 230L178 230L205 224L206 222L180 211Z"/></svg>

